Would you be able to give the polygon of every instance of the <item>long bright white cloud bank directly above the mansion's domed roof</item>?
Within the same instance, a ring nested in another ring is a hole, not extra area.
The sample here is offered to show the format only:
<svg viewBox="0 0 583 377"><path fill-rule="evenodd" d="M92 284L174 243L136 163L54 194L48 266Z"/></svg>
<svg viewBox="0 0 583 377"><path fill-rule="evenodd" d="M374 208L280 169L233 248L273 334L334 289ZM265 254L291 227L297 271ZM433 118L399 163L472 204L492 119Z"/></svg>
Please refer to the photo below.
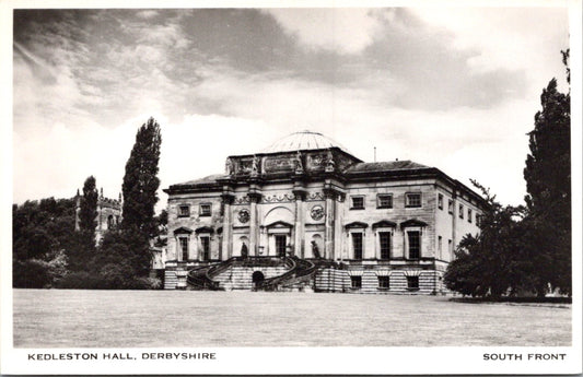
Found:
<svg viewBox="0 0 583 377"><path fill-rule="evenodd" d="M477 178L491 186L504 202L524 196L522 169L526 133L538 104L536 98L499 105L459 107L447 111L385 106L375 90L334 87L289 78L209 72L198 87L222 104L221 111L265 121L273 140L302 129L323 132L364 161L412 160L435 166L470 185ZM254 137L261 130L255 130ZM248 143L253 138L242 138ZM259 151L268 143L252 143ZM445 152L446 151L446 152ZM248 153L248 152L246 152Z"/></svg>

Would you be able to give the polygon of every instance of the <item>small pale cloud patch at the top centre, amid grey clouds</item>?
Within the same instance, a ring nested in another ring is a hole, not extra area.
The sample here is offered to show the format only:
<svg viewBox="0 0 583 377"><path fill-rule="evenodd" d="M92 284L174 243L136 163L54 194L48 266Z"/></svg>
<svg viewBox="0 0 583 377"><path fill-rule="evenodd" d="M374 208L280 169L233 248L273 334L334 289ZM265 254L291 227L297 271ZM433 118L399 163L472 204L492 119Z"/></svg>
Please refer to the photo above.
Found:
<svg viewBox="0 0 583 377"><path fill-rule="evenodd" d="M378 20L368 9L272 9L267 12L302 45L339 54L361 52L380 31Z"/></svg>

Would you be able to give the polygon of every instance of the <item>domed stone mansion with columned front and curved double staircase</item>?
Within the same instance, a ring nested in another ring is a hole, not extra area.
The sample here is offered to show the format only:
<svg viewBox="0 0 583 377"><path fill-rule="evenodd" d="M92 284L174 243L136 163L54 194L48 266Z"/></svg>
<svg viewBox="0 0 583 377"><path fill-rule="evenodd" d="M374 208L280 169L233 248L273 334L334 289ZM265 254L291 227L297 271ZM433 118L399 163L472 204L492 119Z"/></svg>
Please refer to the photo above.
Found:
<svg viewBox="0 0 583 377"><path fill-rule="evenodd" d="M226 290L269 280L276 288L443 293L454 248L479 232L485 205L435 167L364 163L310 131L164 191L166 288L203 279Z"/></svg>

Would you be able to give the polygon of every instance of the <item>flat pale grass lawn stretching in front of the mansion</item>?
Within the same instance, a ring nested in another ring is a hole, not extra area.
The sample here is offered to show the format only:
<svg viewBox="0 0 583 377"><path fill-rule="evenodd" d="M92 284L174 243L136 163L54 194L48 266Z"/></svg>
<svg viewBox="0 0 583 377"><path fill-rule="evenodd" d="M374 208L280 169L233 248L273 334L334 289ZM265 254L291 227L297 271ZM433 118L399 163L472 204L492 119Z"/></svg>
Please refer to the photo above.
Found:
<svg viewBox="0 0 583 377"><path fill-rule="evenodd" d="M571 345L571 305L320 293L14 290L16 347Z"/></svg>

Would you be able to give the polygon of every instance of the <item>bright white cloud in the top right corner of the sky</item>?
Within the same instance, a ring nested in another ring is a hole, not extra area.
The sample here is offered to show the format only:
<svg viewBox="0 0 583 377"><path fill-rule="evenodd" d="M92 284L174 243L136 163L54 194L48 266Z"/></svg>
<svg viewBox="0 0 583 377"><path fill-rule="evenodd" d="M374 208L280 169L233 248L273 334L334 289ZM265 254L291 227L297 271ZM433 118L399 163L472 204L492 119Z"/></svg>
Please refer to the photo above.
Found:
<svg viewBox="0 0 583 377"><path fill-rule="evenodd" d="M569 46L567 8L417 8L412 12L453 33L456 49L476 50L468 59L475 72L524 70L530 80L550 80L561 71L559 51ZM537 80L536 86L540 85Z"/></svg>

